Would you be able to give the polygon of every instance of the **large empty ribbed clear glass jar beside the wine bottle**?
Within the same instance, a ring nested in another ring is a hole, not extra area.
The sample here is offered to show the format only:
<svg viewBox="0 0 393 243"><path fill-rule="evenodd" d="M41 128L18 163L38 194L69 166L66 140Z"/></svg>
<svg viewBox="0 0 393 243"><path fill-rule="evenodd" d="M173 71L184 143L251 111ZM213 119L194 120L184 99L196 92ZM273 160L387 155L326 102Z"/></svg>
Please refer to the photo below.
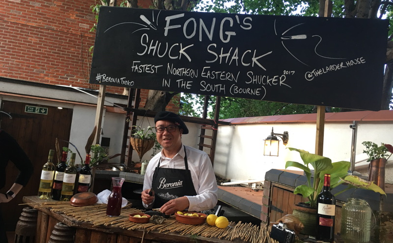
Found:
<svg viewBox="0 0 393 243"><path fill-rule="evenodd" d="M347 200L341 209L341 238L344 243L368 243L371 233L371 208L363 199Z"/></svg>

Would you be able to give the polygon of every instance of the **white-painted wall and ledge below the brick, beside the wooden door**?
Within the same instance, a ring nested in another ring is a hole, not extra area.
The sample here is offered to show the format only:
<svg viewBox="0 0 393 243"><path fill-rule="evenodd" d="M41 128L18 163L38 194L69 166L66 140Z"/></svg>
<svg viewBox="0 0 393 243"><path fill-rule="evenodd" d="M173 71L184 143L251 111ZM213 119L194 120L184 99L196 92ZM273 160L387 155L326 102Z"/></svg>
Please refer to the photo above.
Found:
<svg viewBox="0 0 393 243"><path fill-rule="evenodd" d="M70 89L68 88L68 90ZM96 97L85 94L83 92L67 91L67 89L53 89L53 87L43 88L6 82L0 82L0 91L18 93L21 95L31 95L31 98L12 95L0 95L0 101L9 100L15 102L33 103L42 106L64 107L73 109L69 142L71 142L78 148L81 156L84 159L86 155L84 147L86 146L87 138L90 136L94 127L95 114L97 109ZM46 99L33 98L33 96L45 96ZM105 100L105 105L107 106L113 106L112 103L127 104L127 96L106 96ZM79 102L80 104L76 102ZM101 136L111 138L111 144L109 149L110 155L121 153L124 122L124 114L107 112L104 108L102 119L102 128L104 134L102 134ZM69 148L73 152L76 152L74 147L69 146ZM120 156L111 159L110 162L119 163ZM81 159L77 155L76 164L80 163Z"/></svg>

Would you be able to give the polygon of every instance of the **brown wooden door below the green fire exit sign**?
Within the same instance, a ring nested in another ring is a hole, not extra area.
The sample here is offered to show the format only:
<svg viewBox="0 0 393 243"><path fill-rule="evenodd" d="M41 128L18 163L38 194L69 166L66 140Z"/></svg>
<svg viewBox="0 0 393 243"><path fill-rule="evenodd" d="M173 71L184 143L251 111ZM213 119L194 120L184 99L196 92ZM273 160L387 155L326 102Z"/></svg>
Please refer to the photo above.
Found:
<svg viewBox="0 0 393 243"><path fill-rule="evenodd" d="M6 231L15 231L16 223L27 207L22 204L24 196L37 195L42 166L48 160L49 150L55 150L56 138L60 149L68 147L62 140L69 141L73 109L21 103L3 100L0 105L0 128L11 134L27 153L34 166L34 173L18 195L2 207ZM38 111L38 113L31 113ZM57 159L55 159L57 163ZM6 184L2 191L7 191L14 183L19 171L12 162L6 168ZM6 208L6 210L5 210Z"/></svg>

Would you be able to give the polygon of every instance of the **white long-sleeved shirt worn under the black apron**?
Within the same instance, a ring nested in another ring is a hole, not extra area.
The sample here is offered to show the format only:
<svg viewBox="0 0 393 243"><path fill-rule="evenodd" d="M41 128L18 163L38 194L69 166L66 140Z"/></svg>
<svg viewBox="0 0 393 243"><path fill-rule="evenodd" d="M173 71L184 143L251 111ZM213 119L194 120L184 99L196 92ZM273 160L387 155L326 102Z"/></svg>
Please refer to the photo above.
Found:
<svg viewBox="0 0 393 243"><path fill-rule="evenodd" d="M218 186L212 162L210 161L207 153L203 151L186 146L186 152L188 169L191 171L191 178L194 183L195 191L197 192L196 196L186 196L190 202L188 211L212 209L216 206L218 201ZM184 156L185 153L183 145L181 146L180 151L173 156L173 158L165 157L162 152L156 154L147 165L143 181L143 190L151 188L153 174L160 158L160 168L185 170ZM152 205L142 204L145 208L152 207Z"/></svg>

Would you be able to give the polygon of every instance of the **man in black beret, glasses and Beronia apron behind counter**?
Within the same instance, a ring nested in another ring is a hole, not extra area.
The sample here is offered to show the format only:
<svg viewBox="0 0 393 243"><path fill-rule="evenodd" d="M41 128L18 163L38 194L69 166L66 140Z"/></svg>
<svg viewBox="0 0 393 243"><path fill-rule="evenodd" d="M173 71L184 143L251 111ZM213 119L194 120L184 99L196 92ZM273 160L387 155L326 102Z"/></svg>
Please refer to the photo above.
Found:
<svg viewBox="0 0 393 243"><path fill-rule="evenodd" d="M182 134L187 134L188 128L178 115L159 112L154 122L163 149L146 168L143 206L160 208L166 214L214 208L218 187L209 156L182 144Z"/></svg>

